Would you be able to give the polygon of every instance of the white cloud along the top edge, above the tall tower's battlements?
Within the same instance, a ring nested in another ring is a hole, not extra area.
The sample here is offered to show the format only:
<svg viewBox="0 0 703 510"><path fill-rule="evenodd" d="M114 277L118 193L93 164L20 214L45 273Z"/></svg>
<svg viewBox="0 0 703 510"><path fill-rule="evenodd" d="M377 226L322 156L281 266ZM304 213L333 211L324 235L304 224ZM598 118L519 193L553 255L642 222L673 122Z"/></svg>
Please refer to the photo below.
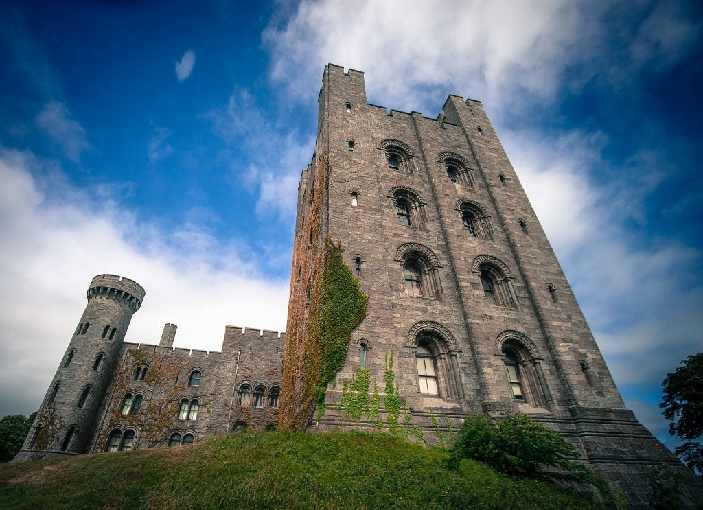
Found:
<svg viewBox="0 0 703 510"><path fill-rule="evenodd" d="M593 77L631 78L652 60L662 69L678 62L695 48L698 25L676 2L638 25L650 4L306 0L285 22L274 19L264 44L272 79L305 100L316 98L331 62L366 72L368 95L382 105L432 116L441 91L501 105L502 114L565 84L573 91ZM632 23L634 38L612 28Z"/></svg>

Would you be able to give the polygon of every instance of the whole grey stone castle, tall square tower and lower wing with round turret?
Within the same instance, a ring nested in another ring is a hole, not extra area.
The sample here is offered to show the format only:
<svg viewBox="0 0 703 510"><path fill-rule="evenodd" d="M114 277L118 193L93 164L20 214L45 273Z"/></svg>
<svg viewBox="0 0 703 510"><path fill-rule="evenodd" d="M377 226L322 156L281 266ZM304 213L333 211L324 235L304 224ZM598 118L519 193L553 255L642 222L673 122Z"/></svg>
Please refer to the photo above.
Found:
<svg viewBox="0 0 703 510"><path fill-rule="evenodd" d="M449 96L437 118L387 112L367 103L362 72L327 65L297 204L288 342L228 326L221 352L173 348L165 325L158 345L130 344L144 289L98 275L15 460L176 446L279 420L412 426L432 440L467 414L518 412L562 433L633 504L649 501L661 463L703 499L625 407L479 101ZM368 305L336 376L312 395L330 250Z"/></svg>

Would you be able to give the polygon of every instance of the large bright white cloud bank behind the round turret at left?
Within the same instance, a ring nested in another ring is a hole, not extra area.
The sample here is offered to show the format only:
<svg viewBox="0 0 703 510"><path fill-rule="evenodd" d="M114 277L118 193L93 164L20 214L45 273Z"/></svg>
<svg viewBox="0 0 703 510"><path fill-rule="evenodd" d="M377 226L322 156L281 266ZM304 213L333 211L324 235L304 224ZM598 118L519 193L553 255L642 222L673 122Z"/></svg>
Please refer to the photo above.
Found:
<svg viewBox="0 0 703 510"><path fill-rule="evenodd" d="M0 348L12 360L0 371L0 414L39 405L97 274L146 288L127 341L157 344L174 322L176 346L219 351L225 325L285 329L288 281L266 279L245 241L220 242L197 223L138 221L118 197L105 200L110 190L96 200L96 190L46 176L49 164L0 152Z"/></svg>

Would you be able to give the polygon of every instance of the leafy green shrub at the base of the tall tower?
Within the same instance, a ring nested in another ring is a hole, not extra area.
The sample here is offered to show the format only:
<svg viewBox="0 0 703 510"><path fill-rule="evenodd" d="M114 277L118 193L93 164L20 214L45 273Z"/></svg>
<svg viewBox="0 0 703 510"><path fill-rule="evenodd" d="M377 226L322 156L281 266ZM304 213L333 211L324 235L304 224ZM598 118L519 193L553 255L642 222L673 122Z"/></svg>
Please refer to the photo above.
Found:
<svg viewBox="0 0 703 510"><path fill-rule="evenodd" d="M579 457L579 450L527 416L509 415L500 421L471 416L450 450L449 463L457 466L462 459L476 459L510 475L601 485L585 466L567 457Z"/></svg>

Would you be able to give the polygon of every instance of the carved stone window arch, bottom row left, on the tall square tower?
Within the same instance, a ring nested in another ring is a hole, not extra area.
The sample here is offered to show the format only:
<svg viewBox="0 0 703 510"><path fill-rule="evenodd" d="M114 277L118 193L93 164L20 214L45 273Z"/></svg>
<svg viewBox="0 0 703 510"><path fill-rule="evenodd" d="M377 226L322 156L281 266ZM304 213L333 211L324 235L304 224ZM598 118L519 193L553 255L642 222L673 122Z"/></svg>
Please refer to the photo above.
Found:
<svg viewBox="0 0 703 510"><path fill-rule="evenodd" d="M415 355L418 391L448 402L464 398L453 334L438 322L421 320L408 330L408 347Z"/></svg>

